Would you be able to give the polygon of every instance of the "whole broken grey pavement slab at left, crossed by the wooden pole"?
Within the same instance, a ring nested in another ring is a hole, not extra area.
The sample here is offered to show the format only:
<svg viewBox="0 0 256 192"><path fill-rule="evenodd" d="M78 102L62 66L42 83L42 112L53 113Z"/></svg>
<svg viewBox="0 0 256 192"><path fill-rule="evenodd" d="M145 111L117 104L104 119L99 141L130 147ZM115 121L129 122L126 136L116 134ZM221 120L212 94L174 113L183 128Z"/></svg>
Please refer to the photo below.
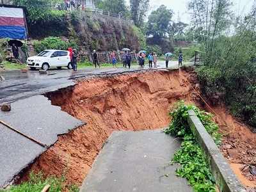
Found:
<svg viewBox="0 0 256 192"><path fill-rule="evenodd" d="M58 135L84 124L43 95L13 102L12 111L0 111L0 120L48 146L56 143ZM46 149L0 124L0 188Z"/></svg>

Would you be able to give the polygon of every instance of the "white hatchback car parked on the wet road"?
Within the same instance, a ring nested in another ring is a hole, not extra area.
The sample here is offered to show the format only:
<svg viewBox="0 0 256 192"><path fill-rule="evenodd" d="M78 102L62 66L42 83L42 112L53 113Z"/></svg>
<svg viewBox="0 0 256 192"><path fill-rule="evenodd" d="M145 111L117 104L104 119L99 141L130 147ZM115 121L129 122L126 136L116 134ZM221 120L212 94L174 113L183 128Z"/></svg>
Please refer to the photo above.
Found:
<svg viewBox="0 0 256 192"><path fill-rule="evenodd" d="M61 67L72 68L68 51L62 50L42 51L38 55L28 58L27 66L31 69L42 68L43 70L48 70L52 67L57 67L58 69Z"/></svg>

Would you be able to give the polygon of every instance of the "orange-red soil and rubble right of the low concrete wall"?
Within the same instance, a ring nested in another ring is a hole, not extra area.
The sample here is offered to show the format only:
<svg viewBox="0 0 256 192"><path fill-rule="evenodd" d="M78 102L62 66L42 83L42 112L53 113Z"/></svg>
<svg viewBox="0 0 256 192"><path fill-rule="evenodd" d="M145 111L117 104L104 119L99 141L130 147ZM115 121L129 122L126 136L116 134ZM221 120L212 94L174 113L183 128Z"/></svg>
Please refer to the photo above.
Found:
<svg viewBox="0 0 256 192"><path fill-rule="evenodd" d="M219 115L215 118L223 134L220 146L223 156L244 186L256 191L256 134L232 117L225 106L220 105L214 110Z"/></svg>

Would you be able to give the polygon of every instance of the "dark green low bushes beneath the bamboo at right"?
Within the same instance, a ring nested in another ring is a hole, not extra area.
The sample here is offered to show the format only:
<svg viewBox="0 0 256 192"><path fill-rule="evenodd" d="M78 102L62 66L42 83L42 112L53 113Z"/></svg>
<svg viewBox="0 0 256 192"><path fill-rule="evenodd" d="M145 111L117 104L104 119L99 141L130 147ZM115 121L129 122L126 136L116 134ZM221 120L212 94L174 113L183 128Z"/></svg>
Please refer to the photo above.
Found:
<svg viewBox="0 0 256 192"><path fill-rule="evenodd" d="M231 113L253 127L256 127L255 64L248 62L230 68L218 65L196 69L204 95L209 99L216 94L222 95L221 99Z"/></svg>

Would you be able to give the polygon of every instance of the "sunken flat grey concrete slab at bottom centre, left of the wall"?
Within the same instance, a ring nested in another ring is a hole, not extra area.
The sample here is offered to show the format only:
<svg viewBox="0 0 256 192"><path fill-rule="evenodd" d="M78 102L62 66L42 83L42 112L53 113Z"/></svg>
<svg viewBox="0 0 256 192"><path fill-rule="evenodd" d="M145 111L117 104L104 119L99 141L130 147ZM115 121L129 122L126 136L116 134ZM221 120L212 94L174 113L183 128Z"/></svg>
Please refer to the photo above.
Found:
<svg viewBox="0 0 256 192"><path fill-rule="evenodd" d="M157 131L113 132L83 182L81 192L192 191L170 159L180 143Z"/></svg>

